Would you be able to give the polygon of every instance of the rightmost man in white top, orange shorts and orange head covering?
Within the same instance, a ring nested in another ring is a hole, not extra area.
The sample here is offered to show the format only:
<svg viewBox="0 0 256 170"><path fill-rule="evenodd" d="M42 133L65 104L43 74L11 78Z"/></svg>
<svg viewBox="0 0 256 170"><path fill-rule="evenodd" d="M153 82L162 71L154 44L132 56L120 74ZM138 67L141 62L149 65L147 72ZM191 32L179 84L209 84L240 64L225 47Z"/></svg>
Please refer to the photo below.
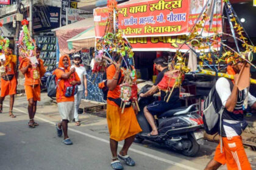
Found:
<svg viewBox="0 0 256 170"><path fill-rule="evenodd" d="M224 107L222 126L219 131L222 142L217 146L215 157L208 163L205 170L215 170L225 164L228 170L251 170L241 138L247 126L243 106L246 107L248 104L256 109L256 98L247 91L250 84L250 67L249 64L232 64L227 67L227 73L234 75L234 81L221 77L215 85Z"/></svg>

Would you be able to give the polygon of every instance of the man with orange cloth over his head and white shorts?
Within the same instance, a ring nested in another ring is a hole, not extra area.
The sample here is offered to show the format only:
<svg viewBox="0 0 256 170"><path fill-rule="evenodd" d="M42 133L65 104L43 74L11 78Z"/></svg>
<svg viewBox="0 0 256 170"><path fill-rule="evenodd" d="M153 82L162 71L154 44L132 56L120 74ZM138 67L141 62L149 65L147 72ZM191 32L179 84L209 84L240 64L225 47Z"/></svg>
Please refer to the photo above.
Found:
<svg viewBox="0 0 256 170"><path fill-rule="evenodd" d="M70 69L71 63L69 56L63 55L59 60L59 67L54 70L57 81L56 100L59 107L59 113L62 117L60 123L56 123L57 135L64 134L64 144L73 144L68 137L68 122L74 117L74 95L77 93L77 86L81 84L80 78L73 67Z"/></svg>

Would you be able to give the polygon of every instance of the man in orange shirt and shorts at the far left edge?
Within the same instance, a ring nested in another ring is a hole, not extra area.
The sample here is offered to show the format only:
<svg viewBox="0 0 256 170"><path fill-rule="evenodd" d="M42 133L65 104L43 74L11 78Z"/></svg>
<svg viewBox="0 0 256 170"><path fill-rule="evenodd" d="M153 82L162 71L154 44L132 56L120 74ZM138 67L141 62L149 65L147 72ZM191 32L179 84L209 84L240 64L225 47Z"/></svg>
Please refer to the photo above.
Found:
<svg viewBox="0 0 256 170"><path fill-rule="evenodd" d="M17 58L12 55L12 49L7 49L5 52L5 61L1 61L0 66L3 69L1 72L1 98L0 98L0 113L2 113L2 103L7 95L10 95L10 109L9 116L15 118L13 115L14 95L16 94L17 87L17 71L16 71Z"/></svg>

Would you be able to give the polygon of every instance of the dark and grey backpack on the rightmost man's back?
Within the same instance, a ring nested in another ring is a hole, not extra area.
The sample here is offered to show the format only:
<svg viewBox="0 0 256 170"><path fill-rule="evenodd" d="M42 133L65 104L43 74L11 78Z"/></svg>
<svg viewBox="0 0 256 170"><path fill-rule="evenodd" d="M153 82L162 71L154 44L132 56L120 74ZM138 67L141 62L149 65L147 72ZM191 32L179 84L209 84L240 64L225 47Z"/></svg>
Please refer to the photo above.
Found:
<svg viewBox="0 0 256 170"><path fill-rule="evenodd" d="M229 80L229 79L228 79ZM233 83L229 80L230 90L233 89ZM210 93L204 101L203 121L204 129L207 134L213 135L221 130L221 118L225 107L222 106L221 98L215 86L212 87Z"/></svg>

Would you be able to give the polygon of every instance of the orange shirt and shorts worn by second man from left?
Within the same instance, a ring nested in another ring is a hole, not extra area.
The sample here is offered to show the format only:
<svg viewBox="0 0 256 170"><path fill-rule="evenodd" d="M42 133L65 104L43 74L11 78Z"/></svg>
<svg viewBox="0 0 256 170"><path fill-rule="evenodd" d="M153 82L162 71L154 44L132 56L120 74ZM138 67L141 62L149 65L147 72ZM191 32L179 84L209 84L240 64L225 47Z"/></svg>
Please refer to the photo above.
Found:
<svg viewBox="0 0 256 170"><path fill-rule="evenodd" d="M28 58L24 58L21 61L19 69L26 67L29 64L29 62L30 61L29 61ZM27 95L27 100L29 100L30 98L34 98L34 101L40 101L40 95L41 95L40 79L41 79L41 77L43 77L46 70L43 66L43 60L38 59L38 62L40 62L40 67L37 66L36 69L38 70L38 72L40 74L39 79L34 79L30 76L30 75L32 75L32 73L31 73L32 72L32 66L30 66L27 69L27 72L24 73L24 75L25 75L24 86L25 86L25 92L26 92L26 95Z"/></svg>

